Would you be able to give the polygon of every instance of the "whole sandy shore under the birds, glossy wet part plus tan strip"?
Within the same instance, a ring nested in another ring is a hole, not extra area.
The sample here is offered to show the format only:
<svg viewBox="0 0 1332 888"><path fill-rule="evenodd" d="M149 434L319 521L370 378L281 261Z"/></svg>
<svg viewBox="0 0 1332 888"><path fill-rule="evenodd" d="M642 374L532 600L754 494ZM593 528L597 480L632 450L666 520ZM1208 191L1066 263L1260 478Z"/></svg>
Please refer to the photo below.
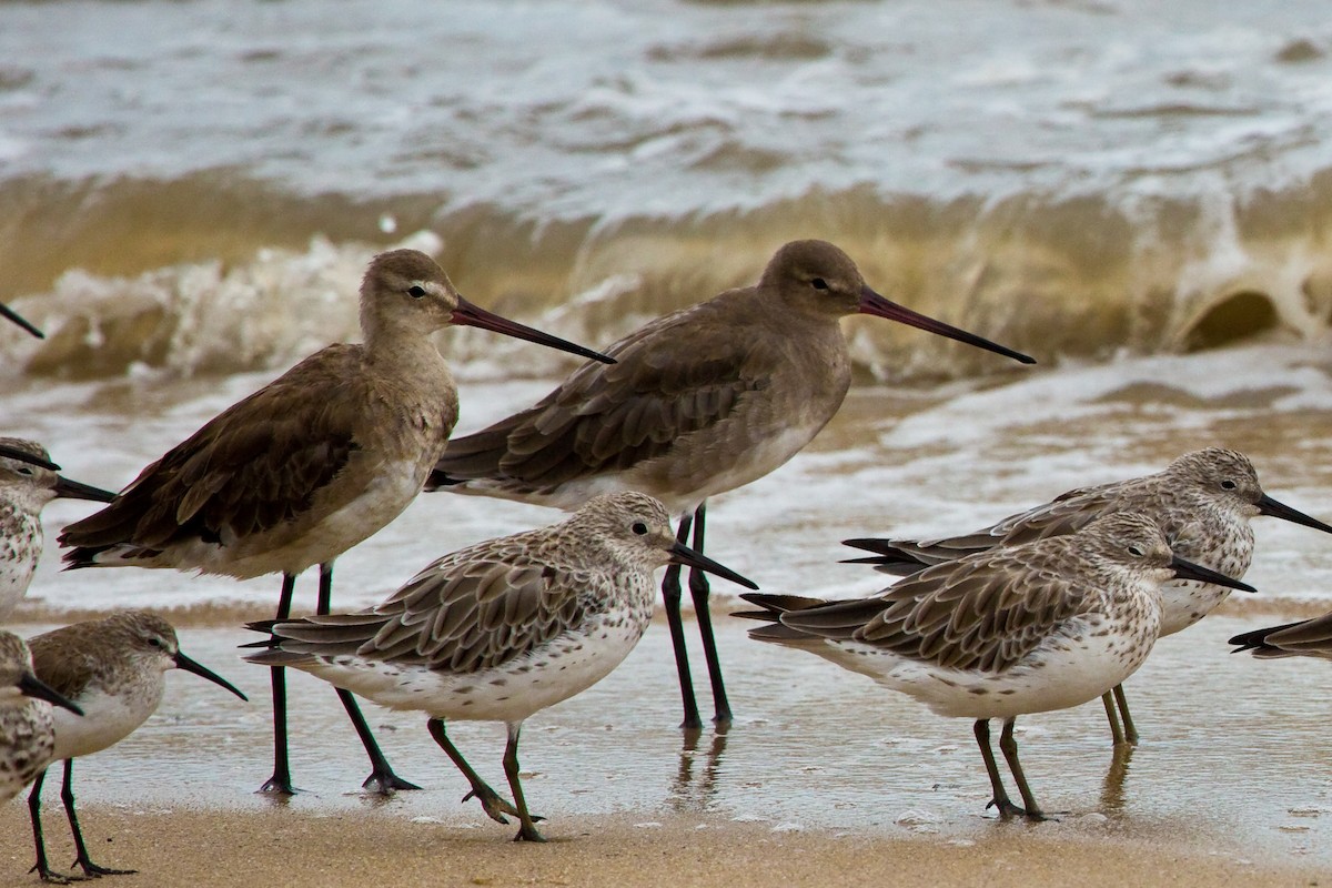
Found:
<svg viewBox="0 0 1332 888"><path fill-rule="evenodd" d="M1327 664L1229 656L1268 615L1212 616L1163 640L1128 684L1143 732L1112 754L1098 704L1019 720L1032 788L1056 823L1004 823L964 720L721 618L737 722L683 736L665 627L623 667L529 720L521 759L543 847L460 804L466 784L424 718L369 707L386 754L422 792L360 793L364 756L326 686L292 682L294 777L270 767L268 676L237 662L234 628L185 628L182 648L250 694L245 706L173 674L159 714L76 767L84 832L125 885L1317 884L1332 865ZM23 634L41 626L20 626ZM1283 691L1280 695L1275 691ZM703 700L706 707L706 699ZM501 787L502 730L450 735ZM72 859L52 775L52 860ZM25 884L27 808L0 808L0 884Z"/></svg>

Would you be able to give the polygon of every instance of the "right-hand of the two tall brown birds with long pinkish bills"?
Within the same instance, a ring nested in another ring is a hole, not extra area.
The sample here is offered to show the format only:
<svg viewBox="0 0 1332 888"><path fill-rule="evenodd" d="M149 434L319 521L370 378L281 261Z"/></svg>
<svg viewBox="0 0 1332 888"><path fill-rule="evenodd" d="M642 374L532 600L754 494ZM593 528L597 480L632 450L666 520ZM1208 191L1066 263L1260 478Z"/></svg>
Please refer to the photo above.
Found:
<svg viewBox="0 0 1332 888"><path fill-rule="evenodd" d="M1032 363L1032 358L875 293L825 241L779 249L758 285L665 316L585 363L535 406L449 442L426 490L577 509L590 497L642 490L679 518L677 539L703 550L710 497L741 487L801 451L842 406L851 361L839 321L871 314ZM681 623L679 567L662 595L685 706L699 727ZM707 610L707 580L689 578L715 722L731 720Z"/></svg>

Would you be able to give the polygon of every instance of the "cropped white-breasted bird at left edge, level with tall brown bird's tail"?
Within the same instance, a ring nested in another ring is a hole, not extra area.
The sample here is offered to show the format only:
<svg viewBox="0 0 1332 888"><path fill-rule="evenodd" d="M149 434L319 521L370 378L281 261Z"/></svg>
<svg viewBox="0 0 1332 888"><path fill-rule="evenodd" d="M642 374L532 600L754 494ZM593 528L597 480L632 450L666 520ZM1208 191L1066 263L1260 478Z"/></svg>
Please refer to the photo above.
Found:
<svg viewBox="0 0 1332 888"><path fill-rule="evenodd" d="M41 558L41 509L52 499L111 502L116 494L56 473L36 441L0 438L0 620L23 600Z"/></svg>

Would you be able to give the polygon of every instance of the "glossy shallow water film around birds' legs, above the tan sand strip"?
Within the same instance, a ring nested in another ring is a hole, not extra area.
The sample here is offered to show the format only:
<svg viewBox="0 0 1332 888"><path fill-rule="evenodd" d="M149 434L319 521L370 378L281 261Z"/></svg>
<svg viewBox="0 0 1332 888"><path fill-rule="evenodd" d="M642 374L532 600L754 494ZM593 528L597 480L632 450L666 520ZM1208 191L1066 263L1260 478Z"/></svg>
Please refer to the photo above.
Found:
<svg viewBox="0 0 1332 888"><path fill-rule="evenodd" d="M931 715L815 656L751 642L719 619L734 727L682 739L670 642L654 624L599 686L529 720L521 746L533 809L559 835L561 816L611 813L650 828L666 813L770 824L938 835L967 841L994 829L1083 837L1142 836L1240 859L1332 863L1332 747L1327 664L1256 662L1224 639L1252 620L1211 618L1166 639L1127 684L1142 744L1111 752L1099 703L1019 720L1032 789L1058 823L1003 824L984 811L988 783L971 723ZM693 626L689 626L693 632ZM376 808L507 837L425 731L424 716L369 707L397 771L425 792L386 801L358 792L368 771L332 690L290 679L293 775L288 803L253 795L272 767L268 672L236 662L248 634L186 630L182 648L250 694L245 706L194 676L173 674L159 715L112 750L80 760L85 803L163 809L180 804L306 812ZM1307 694L1273 696L1273 687ZM706 706L706 702L705 702ZM456 724L450 735L493 785L503 784L503 731ZM25 841L15 837L13 841Z"/></svg>

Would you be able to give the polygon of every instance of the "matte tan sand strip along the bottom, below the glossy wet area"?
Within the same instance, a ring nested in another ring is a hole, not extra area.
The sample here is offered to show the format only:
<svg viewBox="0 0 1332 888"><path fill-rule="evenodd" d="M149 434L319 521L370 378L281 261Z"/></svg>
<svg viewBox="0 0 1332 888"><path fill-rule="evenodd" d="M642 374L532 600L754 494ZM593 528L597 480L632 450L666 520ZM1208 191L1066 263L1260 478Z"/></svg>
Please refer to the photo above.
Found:
<svg viewBox="0 0 1332 888"><path fill-rule="evenodd" d="M115 880L127 888L1317 885L1320 879L1312 864L1217 855L1152 837L1092 837L1063 824L1006 824L976 840L942 841L774 832L715 817L637 824L633 817L574 817L551 827L550 841L533 845L505 841L494 831L480 835L382 813L105 807L85 813L87 829L99 836L95 860L140 869ZM8 805L0 831L25 833L24 815L21 805ZM23 884L17 873L29 864L31 849L7 840L0 856L4 884ZM28 879L37 884L36 876Z"/></svg>

